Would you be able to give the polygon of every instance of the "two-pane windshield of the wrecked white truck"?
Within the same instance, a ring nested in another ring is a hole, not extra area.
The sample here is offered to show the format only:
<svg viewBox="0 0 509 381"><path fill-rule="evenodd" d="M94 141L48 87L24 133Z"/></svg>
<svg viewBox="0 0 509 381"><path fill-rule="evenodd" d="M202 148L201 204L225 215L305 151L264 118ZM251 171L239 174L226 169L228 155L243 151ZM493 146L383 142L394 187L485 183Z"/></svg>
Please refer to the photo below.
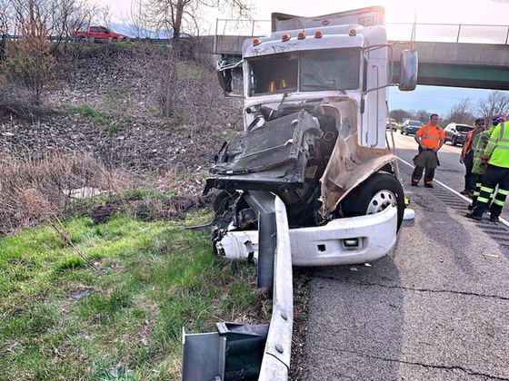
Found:
<svg viewBox="0 0 509 381"><path fill-rule="evenodd" d="M359 87L359 49L305 51L249 61L249 93L353 90Z"/></svg>

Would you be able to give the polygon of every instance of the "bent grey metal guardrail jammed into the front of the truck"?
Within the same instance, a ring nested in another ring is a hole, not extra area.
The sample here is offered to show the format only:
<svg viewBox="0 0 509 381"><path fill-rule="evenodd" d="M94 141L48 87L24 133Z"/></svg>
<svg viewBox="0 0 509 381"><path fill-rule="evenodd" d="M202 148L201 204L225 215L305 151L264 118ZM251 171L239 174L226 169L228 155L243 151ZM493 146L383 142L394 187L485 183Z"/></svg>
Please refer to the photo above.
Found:
<svg viewBox="0 0 509 381"><path fill-rule="evenodd" d="M250 195L248 202L260 213L258 278L262 280L258 287L273 290L270 325L217 323L218 332L186 335L183 331L183 381L229 381L241 376L258 376L259 381L288 379L294 288L286 207L271 193L253 191Z"/></svg>

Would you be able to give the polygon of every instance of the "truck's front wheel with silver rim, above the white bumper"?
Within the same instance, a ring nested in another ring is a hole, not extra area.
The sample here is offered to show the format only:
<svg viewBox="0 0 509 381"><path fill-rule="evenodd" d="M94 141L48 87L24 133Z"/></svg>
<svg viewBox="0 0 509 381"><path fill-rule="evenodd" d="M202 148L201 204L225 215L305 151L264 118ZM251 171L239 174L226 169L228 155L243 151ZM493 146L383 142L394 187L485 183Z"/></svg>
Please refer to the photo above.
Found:
<svg viewBox="0 0 509 381"><path fill-rule="evenodd" d="M341 201L341 205L345 217L378 213L392 205L397 208L399 230L404 215L404 191L394 175L379 171L352 190Z"/></svg>

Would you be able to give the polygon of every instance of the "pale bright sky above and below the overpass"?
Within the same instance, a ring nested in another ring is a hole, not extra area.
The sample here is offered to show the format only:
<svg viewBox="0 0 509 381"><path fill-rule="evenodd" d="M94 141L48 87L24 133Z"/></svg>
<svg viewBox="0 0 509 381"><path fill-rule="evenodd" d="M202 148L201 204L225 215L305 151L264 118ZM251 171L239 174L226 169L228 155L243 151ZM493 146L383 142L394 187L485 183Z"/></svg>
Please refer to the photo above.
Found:
<svg viewBox="0 0 509 381"><path fill-rule="evenodd" d="M133 0L88 0L99 6L109 6L112 22L123 24L130 14ZM245 0L248 2L249 0ZM385 23L388 38L391 40L408 40L406 37L407 28L402 31L394 23L416 23L416 24L477 24L477 25L503 25L496 27L483 27L483 30L496 32L504 41L509 25L509 0L476 0L465 2L465 0L255 0L253 18L255 20L270 20L273 12L280 12L291 15L327 15L336 12L347 11L364 6L382 5L385 9ZM467 5L468 3L468 5ZM214 11L207 11L202 26L205 32L202 34L215 34L217 19L228 18L224 14ZM393 23L393 25L391 25ZM260 23L260 25L268 23ZM457 26L451 26L447 34L454 38L457 33ZM479 29L474 34L478 37ZM267 29L267 33L269 29ZM393 34L393 35L391 35ZM402 34L402 35L399 35ZM483 37L484 38L484 37ZM436 41L436 40L434 40ZM485 41L489 42L489 41ZM436 112L441 116L446 115L451 108L468 98L473 104L487 98L491 90L466 89L453 87L438 87L417 85L413 92L400 92L393 87L389 91L389 109L403 110L427 110ZM509 94L509 92L507 92Z"/></svg>

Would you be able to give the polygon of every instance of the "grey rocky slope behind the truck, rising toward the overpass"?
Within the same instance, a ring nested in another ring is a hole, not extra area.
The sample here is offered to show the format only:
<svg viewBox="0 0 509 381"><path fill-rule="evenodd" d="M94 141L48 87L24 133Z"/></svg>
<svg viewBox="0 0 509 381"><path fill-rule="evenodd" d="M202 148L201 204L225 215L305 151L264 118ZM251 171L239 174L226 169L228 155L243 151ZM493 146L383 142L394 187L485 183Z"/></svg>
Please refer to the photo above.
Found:
<svg viewBox="0 0 509 381"><path fill-rule="evenodd" d="M148 52L107 45L83 54L47 94L55 112L0 121L0 157L90 154L108 169L203 179L222 143L242 129L241 104L223 97L211 64L168 64ZM164 117L159 101L168 93L175 112Z"/></svg>

